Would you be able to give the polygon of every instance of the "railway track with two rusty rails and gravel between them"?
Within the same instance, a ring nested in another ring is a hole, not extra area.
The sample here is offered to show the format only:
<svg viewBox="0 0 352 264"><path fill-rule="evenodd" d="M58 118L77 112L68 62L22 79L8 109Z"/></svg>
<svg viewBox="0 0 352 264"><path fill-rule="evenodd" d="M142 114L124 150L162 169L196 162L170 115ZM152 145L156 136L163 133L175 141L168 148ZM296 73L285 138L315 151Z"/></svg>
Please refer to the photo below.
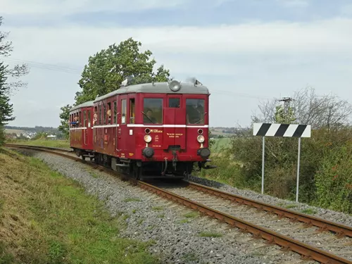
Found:
<svg viewBox="0 0 352 264"><path fill-rule="evenodd" d="M121 177L113 170L77 158L72 151L15 144L6 144L6 146L54 153ZM265 239L268 244L277 244L282 246L283 250L294 251L300 254L303 260L352 264L351 227L228 194L193 182L184 181L182 186L176 187L160 184L160 182L158 184L135 180L131 182L166 199L177 201L210 217L227 222L244 232L250 232L256 239Z"/></svg>

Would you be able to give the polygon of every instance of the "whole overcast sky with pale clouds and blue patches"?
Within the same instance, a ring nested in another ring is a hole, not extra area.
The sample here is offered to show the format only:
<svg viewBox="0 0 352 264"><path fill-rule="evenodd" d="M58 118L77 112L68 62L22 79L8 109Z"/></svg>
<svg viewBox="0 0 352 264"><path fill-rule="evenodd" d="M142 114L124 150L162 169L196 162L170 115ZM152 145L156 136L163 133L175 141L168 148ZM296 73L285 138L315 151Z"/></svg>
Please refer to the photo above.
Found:
<svg viewBox="0 0 352 264"><path fill-rule="evenodd" d="M352 102L350 0L0 0L0 15L4 61L30 65L9 125L57 127L88 57L129 37L208 86L210 126L249 125L260 101L307 86Z"/></svg>

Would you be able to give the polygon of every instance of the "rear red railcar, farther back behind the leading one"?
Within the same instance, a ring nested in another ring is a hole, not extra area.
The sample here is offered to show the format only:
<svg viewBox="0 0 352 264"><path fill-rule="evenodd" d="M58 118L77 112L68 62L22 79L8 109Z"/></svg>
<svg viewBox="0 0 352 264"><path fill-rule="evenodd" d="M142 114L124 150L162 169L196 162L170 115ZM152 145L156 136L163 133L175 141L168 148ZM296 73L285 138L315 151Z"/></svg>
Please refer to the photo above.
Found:
<svg viewBox="0 0 352 264"><path fill-rule="evenodd" d="M77 156L94 158L93 153L93 101L70 109L70 147Z"/></svg>

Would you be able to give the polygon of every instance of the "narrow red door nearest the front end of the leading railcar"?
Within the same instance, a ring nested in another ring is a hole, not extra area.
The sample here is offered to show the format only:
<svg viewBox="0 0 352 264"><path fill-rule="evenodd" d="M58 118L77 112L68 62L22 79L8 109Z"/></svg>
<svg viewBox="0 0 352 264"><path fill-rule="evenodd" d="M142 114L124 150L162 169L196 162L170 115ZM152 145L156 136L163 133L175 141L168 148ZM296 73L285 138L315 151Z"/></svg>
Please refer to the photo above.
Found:
<svg viewBox="0 0 352 264"><path fill-rule="evenodd" d="M120 105L119 125L118 127L118 149L120 150L121 158L127 158L127 95L118 96Z"/></svg>

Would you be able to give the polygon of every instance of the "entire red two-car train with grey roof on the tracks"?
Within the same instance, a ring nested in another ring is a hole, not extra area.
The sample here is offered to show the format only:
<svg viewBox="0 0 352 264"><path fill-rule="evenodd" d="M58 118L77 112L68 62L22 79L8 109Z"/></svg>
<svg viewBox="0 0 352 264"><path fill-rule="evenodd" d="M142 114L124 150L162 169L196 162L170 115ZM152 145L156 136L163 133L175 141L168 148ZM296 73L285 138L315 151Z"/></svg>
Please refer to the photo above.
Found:
<svg viewBox="0 0 352 264"><path fill-rule="evenodd" d="M70 109L70 148L137 180L190 175L210 161L208 88L195 82L127 80Z"/></svg>

